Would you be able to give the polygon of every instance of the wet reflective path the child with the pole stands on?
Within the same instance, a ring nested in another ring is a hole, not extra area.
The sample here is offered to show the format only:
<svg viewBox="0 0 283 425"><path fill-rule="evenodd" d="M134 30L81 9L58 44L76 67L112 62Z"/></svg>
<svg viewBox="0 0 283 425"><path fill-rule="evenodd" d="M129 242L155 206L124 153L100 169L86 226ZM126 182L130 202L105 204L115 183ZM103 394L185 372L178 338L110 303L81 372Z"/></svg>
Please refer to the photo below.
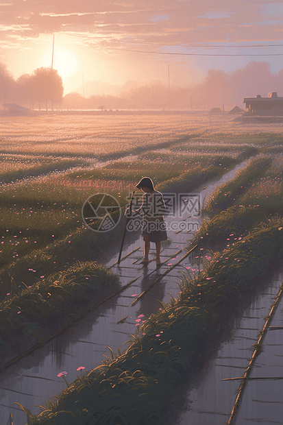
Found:
<svg viewBox="0 0 283 425"><path fill-rule="evenodd" d="M244 166L245 163L236 169ZM234 178L236 169L227 173L218 182L210 184L201 192L201 198L204 199L206 193L210 193L215 186ZM186 223L186 229L191 227L196 230L195 223L198 223L201 217L193 217L186 209L183 213L184 217L180 218L180 221ZM173 221L175 218L167 217L169 225ZM171 243L162 247L163 264L158 269L154 260L147 266L140 265L140 260L143 258L143 245L141 245L143 241L138 237L139 232L127 234L123 255L129 252L132 254L122 260L119 266L114 265L112 270L119 274L122 285L128 284L136 277L138 279L121 294L88 313L63 335L59 335L34 354L24 357L1 374L0 417L4 418L4 424L10 412L13 415L14 425L26 424L25 413L14 402L23 404L32 413L40 413L40 408L35 405L45 404L49 398L66 387L64 380L57 376L59 372L68 372L66 379L72 382L75 374L80 373L77 372L77 367L83 366L91 370L105 359L104 354L109 356L108 346L115 352L118 347L123 350L123 343L130 339L129 335L133 334L151 313L158 311L160 308L158 300L169 301L170 293L174 298L177 296L180 291L177 282L180 282L182 273L186 273L186 267L197 272L193 254L187 256L180 265L172 269L143 298L131 306L137 295L146 291L164 271L177 263L187 252L184 247L188 245L192 231L171 230L167 233ZM109 267L116 262L119 248L116 247L115 251L113 250L112 258L109 258ZM154 255L155 253L151 250L149 258L153 258ZM123 323L117 323L121 319L124 319Z"/></svg>

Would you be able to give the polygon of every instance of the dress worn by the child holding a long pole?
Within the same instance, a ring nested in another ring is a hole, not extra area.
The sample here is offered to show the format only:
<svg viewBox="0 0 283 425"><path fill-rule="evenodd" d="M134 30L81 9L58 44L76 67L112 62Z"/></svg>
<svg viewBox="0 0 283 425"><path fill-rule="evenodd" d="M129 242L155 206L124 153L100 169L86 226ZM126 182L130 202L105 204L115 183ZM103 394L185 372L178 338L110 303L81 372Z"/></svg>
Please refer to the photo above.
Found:
<svg viewBox="0 0 283 425"><path fill-rule="evenodd" d="M162 193L145 193L140 210L143 212L142 236L148 234L149 242L166 241L168 238L163 217L166 207Z"/></svg>

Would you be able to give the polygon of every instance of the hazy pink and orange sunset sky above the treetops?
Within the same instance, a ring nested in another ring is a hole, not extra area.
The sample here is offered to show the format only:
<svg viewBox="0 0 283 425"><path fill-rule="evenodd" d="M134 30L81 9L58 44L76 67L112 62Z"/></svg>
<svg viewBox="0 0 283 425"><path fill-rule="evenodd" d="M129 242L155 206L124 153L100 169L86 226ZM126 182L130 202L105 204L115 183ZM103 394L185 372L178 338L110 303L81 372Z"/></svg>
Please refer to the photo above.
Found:
<svg viewBox="0 0 283 425"><path fill-rule="evenodd" d="M0 62L14 77L51 65L55 34L65 93L83 74L165 83L169 64L171 84L182 86L250 60L283 68L282 0L3 0L0 15Z"/></svg>

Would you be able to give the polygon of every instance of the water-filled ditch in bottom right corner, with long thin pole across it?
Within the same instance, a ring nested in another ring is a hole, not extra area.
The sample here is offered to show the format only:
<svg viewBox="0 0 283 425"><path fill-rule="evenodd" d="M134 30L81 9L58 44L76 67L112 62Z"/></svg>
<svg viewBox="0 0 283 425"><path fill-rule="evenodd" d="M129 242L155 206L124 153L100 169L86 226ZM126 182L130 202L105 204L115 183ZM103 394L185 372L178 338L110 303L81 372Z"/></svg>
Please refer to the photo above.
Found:
<svg viewBox="0 0 283 425"><path fill-rule="evenodd" d="M280 424L283 268L273 263L187 372L167 425Z"/></svg>

